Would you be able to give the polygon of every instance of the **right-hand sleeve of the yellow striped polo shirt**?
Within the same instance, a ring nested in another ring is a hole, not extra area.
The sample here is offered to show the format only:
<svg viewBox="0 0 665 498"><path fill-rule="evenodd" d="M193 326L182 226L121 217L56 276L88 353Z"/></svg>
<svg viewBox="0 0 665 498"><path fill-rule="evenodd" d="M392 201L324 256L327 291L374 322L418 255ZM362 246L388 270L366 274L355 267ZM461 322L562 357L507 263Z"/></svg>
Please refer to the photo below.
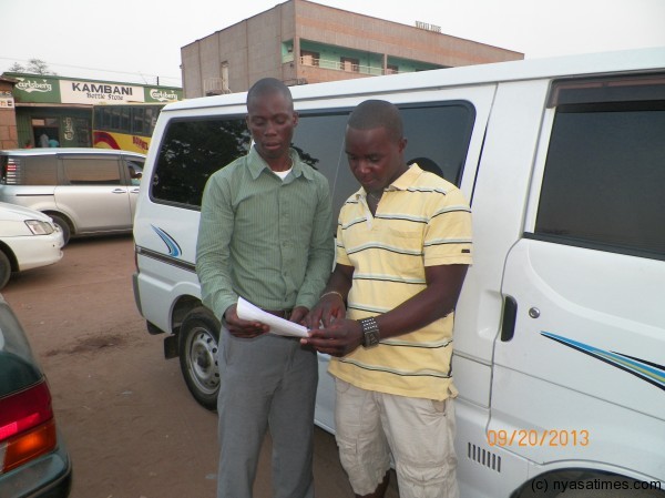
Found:
<svg viewBox="0 0 665 498"><path fill-rule="evenodd" d="M471 210L461 191L438 196L424 228L424 266L471 264Z"/></svg>

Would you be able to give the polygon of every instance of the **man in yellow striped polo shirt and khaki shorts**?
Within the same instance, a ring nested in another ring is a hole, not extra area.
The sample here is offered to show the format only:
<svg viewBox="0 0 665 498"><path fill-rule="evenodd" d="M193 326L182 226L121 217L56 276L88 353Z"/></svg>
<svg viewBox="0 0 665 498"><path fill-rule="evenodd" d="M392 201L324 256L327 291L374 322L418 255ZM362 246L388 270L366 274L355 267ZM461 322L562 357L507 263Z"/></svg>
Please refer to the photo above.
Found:
<svg viewBox="0 0 665 498"><path fill-rule="evenodd" d="M454 185L406 164L406 145L391 103L351 113L346 153L361 189L340 211L337 265L303 343L334 356L336 437L356 496L383 496L392 456L402 498L458 497L450 360L471 213Z"/></svg>

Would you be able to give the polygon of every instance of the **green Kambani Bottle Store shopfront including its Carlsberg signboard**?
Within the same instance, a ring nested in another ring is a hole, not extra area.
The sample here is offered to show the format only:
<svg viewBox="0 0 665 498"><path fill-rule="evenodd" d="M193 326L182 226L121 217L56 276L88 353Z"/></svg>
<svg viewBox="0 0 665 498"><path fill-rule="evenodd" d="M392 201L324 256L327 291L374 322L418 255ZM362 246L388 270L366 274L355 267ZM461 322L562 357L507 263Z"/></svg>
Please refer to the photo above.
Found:
<svg viewBox="0 0 665 498"><path fill-rule="evenodd" d="M9 96L0 102L11 101L12 116L8 114L6 120L4 108L0 106L2 149L39 146L44 134L60 146L92 146L95 104L182 100L182 89L174 87L9 72L0 78L0 96L3 94ZM6 121L7 132L2 124ZM3 140L6 134L14 140Z"/></svg>

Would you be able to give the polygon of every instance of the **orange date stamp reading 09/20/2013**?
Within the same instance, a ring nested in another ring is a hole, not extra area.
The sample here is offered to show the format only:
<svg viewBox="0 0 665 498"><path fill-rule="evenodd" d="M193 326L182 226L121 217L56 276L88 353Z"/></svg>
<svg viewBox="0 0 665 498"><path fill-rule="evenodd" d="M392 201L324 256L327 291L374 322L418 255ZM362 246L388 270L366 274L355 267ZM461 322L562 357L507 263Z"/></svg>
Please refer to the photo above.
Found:
<svg viewBox="0 0 665 498"><path fill-rule="evenodd" d="M501 447L572 447L589 446L587 429L490 429L488 445Z"/></svg>

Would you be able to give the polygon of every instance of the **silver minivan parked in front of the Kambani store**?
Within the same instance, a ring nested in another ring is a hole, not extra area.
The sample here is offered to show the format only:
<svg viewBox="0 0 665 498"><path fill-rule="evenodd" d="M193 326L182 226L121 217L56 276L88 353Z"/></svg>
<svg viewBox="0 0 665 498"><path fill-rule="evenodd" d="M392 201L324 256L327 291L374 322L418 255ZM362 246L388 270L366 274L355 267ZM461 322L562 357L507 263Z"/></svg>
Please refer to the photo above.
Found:
<svg viewBox="0 0 665 498"><path fill-rule="evenodd" d="M130 233L145 155L108 149L0 151L0 201L48 214L73 236Z"/></svg>

